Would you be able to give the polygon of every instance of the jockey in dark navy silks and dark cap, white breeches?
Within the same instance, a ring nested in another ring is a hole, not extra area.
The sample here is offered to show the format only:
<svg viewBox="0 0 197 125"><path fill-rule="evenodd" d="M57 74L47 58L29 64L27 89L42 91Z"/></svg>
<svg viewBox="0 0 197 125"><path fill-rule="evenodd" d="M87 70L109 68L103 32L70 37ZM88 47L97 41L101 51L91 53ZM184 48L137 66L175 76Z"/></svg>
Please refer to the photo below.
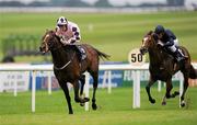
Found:
<svg viewBox="0 0 197 125"><path fill-rule="evenodd" d="M178 41L172 31L158 25L154 33L158 35L158 44L164 47L178 63L185 59L184 54L177 47Z"/></svg>

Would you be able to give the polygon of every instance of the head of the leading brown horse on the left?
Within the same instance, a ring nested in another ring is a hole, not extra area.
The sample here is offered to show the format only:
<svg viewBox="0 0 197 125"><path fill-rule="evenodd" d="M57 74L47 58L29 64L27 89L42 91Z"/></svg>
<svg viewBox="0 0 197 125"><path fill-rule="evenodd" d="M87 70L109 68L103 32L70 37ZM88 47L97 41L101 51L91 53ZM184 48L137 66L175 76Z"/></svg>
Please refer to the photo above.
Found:
<svg viewBox="0 0 197 125"><path fill-rule="evenodd" d="M60 46L60 42L56 36L55 31L46 31L45 35L42 38L42 45L39 50L45 54L49 50L56 49Z"/></svg>

